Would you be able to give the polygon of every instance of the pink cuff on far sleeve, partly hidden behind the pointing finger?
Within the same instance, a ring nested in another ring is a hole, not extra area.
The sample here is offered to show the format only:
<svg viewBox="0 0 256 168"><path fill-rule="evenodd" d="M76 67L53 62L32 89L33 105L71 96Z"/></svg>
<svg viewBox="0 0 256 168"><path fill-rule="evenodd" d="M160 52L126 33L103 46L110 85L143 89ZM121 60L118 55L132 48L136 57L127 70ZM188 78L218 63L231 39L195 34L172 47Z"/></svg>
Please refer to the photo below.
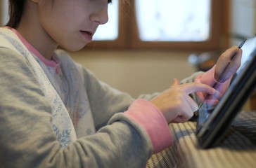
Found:
<svg viewBox="0 0 256 168"><path fill-rule="evenodd" d="M218 84L217 90L219 91L220 94L224 94L224 92L226 92L226 89L229 87L231 78L226 80L224 83L218 83L215 80L214 76L215 76L215 66L213 66L210 70L206 71L205 73L201 73L199 76L197 76L195 79L195 82L196 83L204 83L204 84L210 85L210 86L213 86L213 85L215 85L215 83L217 83ZM198 92L197 95L201 101L205 97L205 95L202 92Z"/></svg>

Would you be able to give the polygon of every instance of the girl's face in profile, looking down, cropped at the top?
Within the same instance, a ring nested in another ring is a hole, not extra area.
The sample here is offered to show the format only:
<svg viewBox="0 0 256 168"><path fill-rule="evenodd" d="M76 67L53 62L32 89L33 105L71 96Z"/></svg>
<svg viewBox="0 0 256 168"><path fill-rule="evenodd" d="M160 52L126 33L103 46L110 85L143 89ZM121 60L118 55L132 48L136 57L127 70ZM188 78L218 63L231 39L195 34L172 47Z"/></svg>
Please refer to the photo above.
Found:
<svg viewBox="0 0 256 168"><path fill-rule="evenodd" d="M66 50L89 43L98 25L108 22L108 0L37 1L40 29Z"/></svg>

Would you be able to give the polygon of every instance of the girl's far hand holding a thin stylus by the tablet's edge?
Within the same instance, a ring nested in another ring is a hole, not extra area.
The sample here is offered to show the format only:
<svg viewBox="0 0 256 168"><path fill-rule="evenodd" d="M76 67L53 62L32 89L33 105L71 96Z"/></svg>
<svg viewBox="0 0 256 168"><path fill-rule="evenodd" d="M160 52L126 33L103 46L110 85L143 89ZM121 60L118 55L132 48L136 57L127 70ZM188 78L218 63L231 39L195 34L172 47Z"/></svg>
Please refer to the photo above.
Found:
<svg viewBox="0 0 256 168"><path fill-rule="evenodd" d="M219 81L222 72L229 63L231 63L231 69L229 69L229 73L227 73L225 78L222 80L222 83L224 83L224 81L226 81L227 79L231 78L231 76L233 76L233 74L236 73L236 71L241 65L241 55L242 50L237 46L233 46L225 52L223 52L216 63L215 80ZM233 59L233 62L231 62L231 59Z"/></svg>

